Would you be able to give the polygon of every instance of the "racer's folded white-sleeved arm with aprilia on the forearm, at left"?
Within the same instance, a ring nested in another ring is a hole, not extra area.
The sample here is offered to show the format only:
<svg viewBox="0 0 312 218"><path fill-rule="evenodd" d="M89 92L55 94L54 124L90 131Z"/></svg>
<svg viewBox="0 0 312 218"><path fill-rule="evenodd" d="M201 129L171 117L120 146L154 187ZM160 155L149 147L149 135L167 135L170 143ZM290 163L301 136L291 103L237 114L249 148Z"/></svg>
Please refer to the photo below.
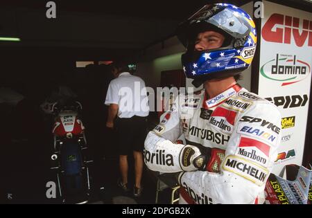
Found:
<svg viewBox="0 0 312 218"><path fill-rule="evenodd" d="M191 145L173 143L182 135L179 102L183 100L183 96L177 98L171 111L164 113L162 121L146 137L144 162L150 170L180 172L198 169L193 164L201 158L199 149Z"/></svg>

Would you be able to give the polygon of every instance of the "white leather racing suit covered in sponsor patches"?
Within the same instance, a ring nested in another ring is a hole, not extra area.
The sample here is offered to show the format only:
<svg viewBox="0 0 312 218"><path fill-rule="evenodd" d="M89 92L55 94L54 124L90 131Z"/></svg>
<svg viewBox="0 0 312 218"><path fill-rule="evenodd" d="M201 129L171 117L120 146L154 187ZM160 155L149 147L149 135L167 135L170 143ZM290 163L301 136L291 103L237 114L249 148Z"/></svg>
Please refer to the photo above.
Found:
<svg viewBox="0 0 312 218"><path fill-rule="evenodd" d="M280 131L277 107L238 84L211 99L205 90L180 95L148 133L144 162L153 171L182 171L180 203L255 203L277 158ZM187 145L173 143L182 134ZM209 152L207 170L181 164L188 145L198 147L194 155Z"/></svg>

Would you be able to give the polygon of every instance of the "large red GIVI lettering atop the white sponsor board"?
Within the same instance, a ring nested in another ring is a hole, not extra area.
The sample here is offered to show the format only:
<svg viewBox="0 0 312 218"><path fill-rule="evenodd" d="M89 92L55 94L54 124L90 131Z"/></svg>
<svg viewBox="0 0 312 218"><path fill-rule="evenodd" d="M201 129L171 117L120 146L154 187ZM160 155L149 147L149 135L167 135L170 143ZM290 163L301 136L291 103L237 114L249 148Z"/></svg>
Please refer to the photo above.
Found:
<svg viewBox="0 0 312 218"><path fill-rule="evenodd" d="M292 44L292 41L295 41L298 47L302 47L304 44L312 46L312 21L272 14L263 25L261 34L263 39L268 42Z"/></svg>

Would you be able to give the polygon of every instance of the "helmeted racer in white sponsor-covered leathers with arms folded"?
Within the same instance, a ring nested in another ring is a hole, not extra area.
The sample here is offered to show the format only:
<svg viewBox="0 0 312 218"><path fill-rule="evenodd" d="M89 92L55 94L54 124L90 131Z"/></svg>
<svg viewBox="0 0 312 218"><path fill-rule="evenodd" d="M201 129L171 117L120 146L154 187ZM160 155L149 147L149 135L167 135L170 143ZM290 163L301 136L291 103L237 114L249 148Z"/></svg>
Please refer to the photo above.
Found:
<svg viewBox="0 0 312 218"><path fill-rule="evenodd" d="M187 47L184 72L205 89L180 96L148 133L145 163L180 172L180 203L257 203L277 158L281 114L236 83L254 56L254 21L236 6L212 4L182 23L177 36ZM173 143L181 134L187 145Z"/></svg>

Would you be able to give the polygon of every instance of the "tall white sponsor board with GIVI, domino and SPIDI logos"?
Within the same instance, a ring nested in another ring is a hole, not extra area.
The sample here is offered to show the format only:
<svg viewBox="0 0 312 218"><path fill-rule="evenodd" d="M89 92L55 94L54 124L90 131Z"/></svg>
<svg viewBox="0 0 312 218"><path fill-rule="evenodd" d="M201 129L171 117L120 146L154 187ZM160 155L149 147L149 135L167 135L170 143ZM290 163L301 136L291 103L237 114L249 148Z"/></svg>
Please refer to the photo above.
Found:
<svg viewBox="0 0 312 218"><path fill-rule="evenodd" d="M276 105L283 118L279 160L272 169L279 174L286 164L302 165L311 89L312 13L265 0L263 8L258 94Z"/></svg>

